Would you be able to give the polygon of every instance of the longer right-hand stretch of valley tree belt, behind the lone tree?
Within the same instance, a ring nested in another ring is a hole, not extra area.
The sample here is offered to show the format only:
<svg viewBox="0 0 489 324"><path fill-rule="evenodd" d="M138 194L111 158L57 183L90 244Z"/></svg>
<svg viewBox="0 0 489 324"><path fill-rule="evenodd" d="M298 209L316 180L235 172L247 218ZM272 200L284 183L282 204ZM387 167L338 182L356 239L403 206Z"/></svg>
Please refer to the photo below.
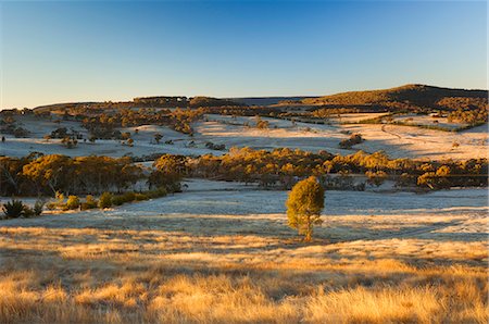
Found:
<svg viewBox="0 0 489 324"><path fill-rule="evenodd" d="M297 179L315 175L325 185L342 183L350 189L352 184L349 179L353 174L365 175L367 184L372 185L379 185L386 179L396 180L402 187L432 189L488 185L487 159L419 162L389 159L384 152L367 154L359 151L350 155L334 155L326 151L312 153L287 148L273 151L231 148L227 154L206 154L188 164L188 173L192 176L258 182L265 187L278 184L290 188ZM335 174L339 176L331 179L330 175Z"/></svg>

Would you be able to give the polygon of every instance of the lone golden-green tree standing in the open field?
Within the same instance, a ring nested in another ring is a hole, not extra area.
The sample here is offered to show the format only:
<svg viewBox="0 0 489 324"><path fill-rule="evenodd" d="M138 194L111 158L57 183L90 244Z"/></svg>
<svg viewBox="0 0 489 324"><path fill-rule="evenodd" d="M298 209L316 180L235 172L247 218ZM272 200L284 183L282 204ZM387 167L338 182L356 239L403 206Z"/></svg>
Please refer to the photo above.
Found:
<svg viewBox="0 0 489 324"><path fill-rule="evenodd" d="M286 202L289 226L311 241L313 226L323 223L321 211L324 208L324 188L316 177L310 176L293 186Z"/></svg>

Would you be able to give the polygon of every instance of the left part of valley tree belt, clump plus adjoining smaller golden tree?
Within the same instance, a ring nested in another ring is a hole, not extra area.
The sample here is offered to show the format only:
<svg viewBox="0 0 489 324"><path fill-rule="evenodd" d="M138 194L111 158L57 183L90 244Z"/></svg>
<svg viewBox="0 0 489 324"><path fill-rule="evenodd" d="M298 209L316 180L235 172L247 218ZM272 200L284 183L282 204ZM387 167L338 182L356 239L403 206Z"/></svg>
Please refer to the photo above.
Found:
<svg viewBox="0 0 489 324"><path fill-rule="evenodd" d="M30 154L25 158L0 157L0 195L65 196L124 192L131 188L179 190L185 170L177 155L163 155L152 169L135 164L130 158ZM168 162L170 161L170 162ZM142 184L141 184L142 182Z"/></svg>

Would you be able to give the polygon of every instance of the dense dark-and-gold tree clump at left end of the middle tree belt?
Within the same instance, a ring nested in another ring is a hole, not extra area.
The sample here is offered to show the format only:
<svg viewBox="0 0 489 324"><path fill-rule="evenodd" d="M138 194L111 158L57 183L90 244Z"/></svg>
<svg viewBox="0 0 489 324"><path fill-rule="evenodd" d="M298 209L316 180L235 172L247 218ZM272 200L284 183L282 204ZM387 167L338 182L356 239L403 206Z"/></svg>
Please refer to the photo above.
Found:
<svg viewBox="0 0 489 324"><path fill-rule="evenodd" d="M129 158L70 158L60 154L0 157L0 194L53 195L121 191L143 179L143 170Z"/></svg>

